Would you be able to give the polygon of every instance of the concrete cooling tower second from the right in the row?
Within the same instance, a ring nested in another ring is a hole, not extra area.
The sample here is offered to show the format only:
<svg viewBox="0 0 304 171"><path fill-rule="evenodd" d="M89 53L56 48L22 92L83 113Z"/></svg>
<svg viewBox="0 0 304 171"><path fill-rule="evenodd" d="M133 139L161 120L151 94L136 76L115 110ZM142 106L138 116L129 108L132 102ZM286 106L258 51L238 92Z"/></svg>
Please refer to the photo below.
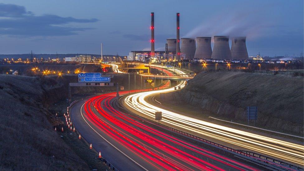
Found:
<svg viewBox="0 0 304 171"><path fill-rule="evenodd" d="M214 36L212 59L232 59L229 48L229 36Z"/></svg>

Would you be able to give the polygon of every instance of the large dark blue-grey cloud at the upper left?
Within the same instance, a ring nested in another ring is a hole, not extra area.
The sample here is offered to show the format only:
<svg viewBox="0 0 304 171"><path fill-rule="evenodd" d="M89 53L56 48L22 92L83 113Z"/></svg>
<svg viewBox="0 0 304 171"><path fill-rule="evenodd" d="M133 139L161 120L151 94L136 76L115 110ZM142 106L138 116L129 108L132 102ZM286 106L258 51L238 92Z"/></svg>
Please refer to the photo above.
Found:
<svg viewBox="0 0 304 171"><path fill-rule="evenodd" d="M14 4L0 3L0 35L12 36L69 36L76 35L78 31L93 28L62 26L69 23L92 23L92 19L77 19L73 17L60 17L45 14L36 16L27 12L25 7Z"/></svg>

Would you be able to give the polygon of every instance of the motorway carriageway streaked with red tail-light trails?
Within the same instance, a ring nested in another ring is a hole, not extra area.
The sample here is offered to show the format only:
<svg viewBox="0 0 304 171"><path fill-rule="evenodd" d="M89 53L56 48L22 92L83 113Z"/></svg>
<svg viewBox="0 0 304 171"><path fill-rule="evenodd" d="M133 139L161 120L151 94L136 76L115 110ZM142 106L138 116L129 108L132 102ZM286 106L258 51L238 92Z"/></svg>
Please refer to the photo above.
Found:
<svg viewBox="0 0 304 171"><path fill-rule="evenodd" d="M149 127L116 102L116 93L87 97L70 114L82 137L118 170L257 170Z"/></svg>

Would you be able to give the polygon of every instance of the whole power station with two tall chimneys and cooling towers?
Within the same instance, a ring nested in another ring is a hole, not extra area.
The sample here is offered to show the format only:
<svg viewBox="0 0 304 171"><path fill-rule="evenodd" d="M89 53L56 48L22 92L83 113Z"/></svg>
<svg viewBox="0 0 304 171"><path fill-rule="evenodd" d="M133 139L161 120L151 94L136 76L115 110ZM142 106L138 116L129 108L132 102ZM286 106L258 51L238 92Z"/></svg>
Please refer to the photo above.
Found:
<svg viewBox="0 0 304 171"><path fill-rule="evenodd" d="M197 37L196 41L192 38L180 39L179 21L180 14L176 13L176 39L167 39L165 51L154 51L154 12L151 12L151 51L131 51L126 60L158 62L160 60L179 61L181 59L249 59L246 37L232 37L230 50L229 36L214 36L212 50L211 37Z"/></svg>

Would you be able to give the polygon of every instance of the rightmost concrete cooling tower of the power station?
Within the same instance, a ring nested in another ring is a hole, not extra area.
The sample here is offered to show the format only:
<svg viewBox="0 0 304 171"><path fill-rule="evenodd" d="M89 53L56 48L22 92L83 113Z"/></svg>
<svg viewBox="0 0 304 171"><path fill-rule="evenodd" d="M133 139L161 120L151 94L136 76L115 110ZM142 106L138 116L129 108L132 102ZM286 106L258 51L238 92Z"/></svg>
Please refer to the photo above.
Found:
<svg viewBox="0 0 304 171"><path fill-rule="evenodd" d="M232 59L249 59L246 47L246 37L232 37L231 39Z"/></svg>

